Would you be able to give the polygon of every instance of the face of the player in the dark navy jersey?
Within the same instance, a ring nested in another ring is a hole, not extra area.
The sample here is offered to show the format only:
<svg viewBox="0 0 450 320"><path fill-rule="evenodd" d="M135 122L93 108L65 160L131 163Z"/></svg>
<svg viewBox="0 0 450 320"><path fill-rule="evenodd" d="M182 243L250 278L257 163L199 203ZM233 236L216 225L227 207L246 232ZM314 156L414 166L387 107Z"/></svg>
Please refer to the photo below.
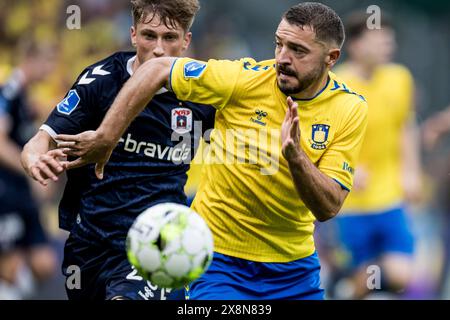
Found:
<svg viewBox="0 0 450 320"><path fill-rule="evenodd" d="M149 17L152 14L149 13ZM179 57L188 48L192 34L176 24L167 27L158 15L131 27L131 41L136 46L140 63L158 57Z"/></svg>

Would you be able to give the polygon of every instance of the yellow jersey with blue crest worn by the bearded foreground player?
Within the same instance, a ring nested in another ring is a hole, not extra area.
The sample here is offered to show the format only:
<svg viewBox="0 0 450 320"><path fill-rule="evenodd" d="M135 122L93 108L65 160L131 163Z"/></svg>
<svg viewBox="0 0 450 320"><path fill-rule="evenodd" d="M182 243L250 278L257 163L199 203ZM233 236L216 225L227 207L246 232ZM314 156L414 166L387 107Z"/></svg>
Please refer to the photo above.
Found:
<svg viewBox="0 0 450 320"><path fill-rule="evenodd" d="M281 153L287 96L275 61L178 59L169 86L181 100L217 108L210 152L192 205L208 222L215 251L258 262L314 253L314 216L297 194ZM333 73L313 99L297 100L301 147L351 189L367 121L364 98Z"/></svg>

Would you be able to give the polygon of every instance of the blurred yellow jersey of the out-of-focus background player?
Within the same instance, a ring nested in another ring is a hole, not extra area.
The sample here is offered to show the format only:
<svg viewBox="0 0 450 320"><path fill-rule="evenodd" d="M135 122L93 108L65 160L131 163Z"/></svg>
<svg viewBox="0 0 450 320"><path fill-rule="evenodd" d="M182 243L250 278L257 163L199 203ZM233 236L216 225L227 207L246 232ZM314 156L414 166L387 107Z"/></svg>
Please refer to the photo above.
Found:
<svg viewBox="0 0 450 320"><path fill-rule="evenodd" d="M403 66L378 67L370 80L353 74L347 65L336 73L363 94L369 104L369 122L359 165L367 173L366 187L353 190L344 204L349 213L378 212L403 200L402 131L414 114L413 78Z"/></svg>

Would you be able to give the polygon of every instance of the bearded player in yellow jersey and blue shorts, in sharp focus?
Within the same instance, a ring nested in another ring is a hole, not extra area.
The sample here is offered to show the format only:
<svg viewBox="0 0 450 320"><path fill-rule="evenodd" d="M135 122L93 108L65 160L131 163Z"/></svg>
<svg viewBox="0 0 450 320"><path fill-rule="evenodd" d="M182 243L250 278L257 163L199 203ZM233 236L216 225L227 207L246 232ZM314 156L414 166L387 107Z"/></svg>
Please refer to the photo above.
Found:
<svg viewBox="0 0 450 320"><path fill-rule="evenodd" d="M215 254L191 299L323 298L313 222L334 217L352 188L367 104L330 72L344 41L332 9L293 6L275 39L275 59L261 63L154 59L96 131L58 136L80 157L70 167L96 162L101 178L125 128L162 86L216 107L192 205L213 232Z"/></svg>

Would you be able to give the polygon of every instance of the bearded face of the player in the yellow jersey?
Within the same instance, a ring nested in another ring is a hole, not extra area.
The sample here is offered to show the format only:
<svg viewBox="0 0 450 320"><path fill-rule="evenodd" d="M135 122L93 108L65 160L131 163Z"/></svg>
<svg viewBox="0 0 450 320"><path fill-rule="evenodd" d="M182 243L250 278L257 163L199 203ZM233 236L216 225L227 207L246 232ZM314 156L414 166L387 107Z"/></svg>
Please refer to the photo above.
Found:
<svg viewBox="0 0 450 320"><path fill-rule="evenodd" d="M283 93L300 93L320 81L329 65L328 50L310 27L300 28L283 19L275 38L277 81Z"/></svg>

